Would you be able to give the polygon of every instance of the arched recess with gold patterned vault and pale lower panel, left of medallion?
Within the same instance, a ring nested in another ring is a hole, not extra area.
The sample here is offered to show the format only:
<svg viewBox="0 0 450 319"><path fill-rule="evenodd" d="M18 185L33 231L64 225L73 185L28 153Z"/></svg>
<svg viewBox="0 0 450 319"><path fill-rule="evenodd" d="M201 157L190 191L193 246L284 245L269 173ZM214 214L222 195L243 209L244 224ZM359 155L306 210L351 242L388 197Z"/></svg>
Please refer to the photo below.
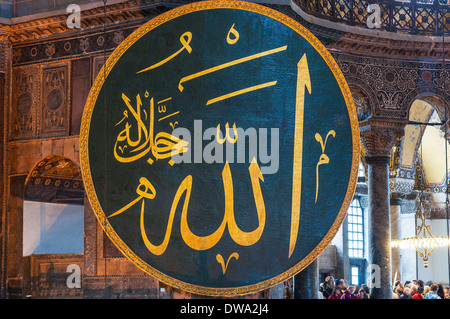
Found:
<svg viewBox="0 0 450 319"><path fill-rule="evenodd" d="M83 253L84 186L80 168L50 155L25 180L23 256Z"/></svg>

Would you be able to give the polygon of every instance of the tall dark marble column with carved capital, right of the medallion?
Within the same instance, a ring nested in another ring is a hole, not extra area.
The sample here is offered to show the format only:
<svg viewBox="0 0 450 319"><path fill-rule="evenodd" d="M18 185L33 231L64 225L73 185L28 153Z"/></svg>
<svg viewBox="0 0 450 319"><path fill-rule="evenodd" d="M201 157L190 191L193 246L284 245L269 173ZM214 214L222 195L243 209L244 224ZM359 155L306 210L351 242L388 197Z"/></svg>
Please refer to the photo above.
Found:
<svg viewBox="0 0 450 319"><path fill-rule="evenodd" d="M391 220L389 195L390 152L404 125L368 120L360 123L368 165L368 274L370 298L392 298Z"/></svg>

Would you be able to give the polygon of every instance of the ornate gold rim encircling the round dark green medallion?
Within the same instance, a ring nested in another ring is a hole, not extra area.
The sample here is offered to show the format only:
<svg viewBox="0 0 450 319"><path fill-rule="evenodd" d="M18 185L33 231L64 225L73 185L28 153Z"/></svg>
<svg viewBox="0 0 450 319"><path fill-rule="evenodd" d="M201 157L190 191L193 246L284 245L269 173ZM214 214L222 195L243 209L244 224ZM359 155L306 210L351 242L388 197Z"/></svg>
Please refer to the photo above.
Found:
<svg viewBox="0 0 450 319"><path fill-rule="evenodd" d="M154 28L162 25L163 23L175 19L179 16L202 11L202 10L211 10L211 9L238 9L244 11L250 11L254 13L258 13L261 15L265 15L269 18L272 18L278 22L283 23L287 27L291 28L302 37L304 37L322 56L325 60L331 71L333 72L334 77L336 78L339 87L341 88L341 92L344 96L348 114L350 117L350 124L352 129L352 143L353 143L353 151L352 151L352 167L350 172L349 183L347 187L346 196L344 198L341 209L333 222L330 230L322 239L322 241L311 251L303 260L297 263L291 269L285 271L284 273L277 275L271 279L259 282L257 284L252 284L248 286L242 286L237 288L211 288L193 285L189 283L182 282L180 280L169 277L160 271L152 268L150 265L145 263L142 259L140 259L133 251L131 251L127 245L118 237L117 233L111 227L109 222L107 221L105 214L99 204L97 194L94 189L94 185L92 182L91 171L89 167L89 154L88 154L88 136L89 136L89 127L92 116L92 111L94 105L96 103L98 94L100 89L108 76L109 72L114 67L115 63L120 59L122 54L127 51L129 47L131 47L136 41L138 41L142 36L144 36L149 31ZM333 237L336 235L339 227L345 219L347 209L350 206L351 201L353 200L354 192L356 189L356 182L358 179L358 166L360 159L360 139L359 139L359 126L356 115L356 110L353 105L352 96L350 93L350 89L345 81L345 78L339 69L337 63L334 61L331 54L328 50L320 43L320 41L312 35L307 29L297 23L295 20L285 16L284 14L269 9L267 7L248 3L241 1L204 1L191 3L168 12L161 14L160 16L150 20L139 29L134 31L127 39L125 39L111 54L111 56L106 61L105 65L102 67L99 75L97 76L91 91L89 93L86 106L83 112L83 118L81 122L81 133L80 133L80 163L81 163L81 171L83 180L85 183L85 190L89 198L89 202L92 206L92 209L100 222L100 225L103 227L103 230L106 234L111 238L112 242L118 247L118 249L131 261L133 261L136 266L142 269L144 272L156 277L158 280L196 294L201 295L209 295L209 296L238 296L244 294L250 294L254 292L261 291L263 289L270 288L275 286L284 280L287 280L306 268L311 262L313 262L325 248L329 245Z"/></svg>

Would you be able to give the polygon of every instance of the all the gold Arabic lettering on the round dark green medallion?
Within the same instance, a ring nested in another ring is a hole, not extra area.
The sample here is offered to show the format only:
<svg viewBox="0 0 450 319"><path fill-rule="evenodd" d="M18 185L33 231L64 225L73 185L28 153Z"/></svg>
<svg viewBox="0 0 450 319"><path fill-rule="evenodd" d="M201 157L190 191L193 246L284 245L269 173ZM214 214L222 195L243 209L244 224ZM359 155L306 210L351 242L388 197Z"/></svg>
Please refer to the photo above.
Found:
<svg viewBox="0 0 450 319"><path fill-rule="evenodd" d="M233 45L239 40L239 32L235 29L233 24L230 28L226 41L228 44ZM180 43L182 47L174 52L169 57L154 63L153 65L138 71L136 74L151 71L158 68L172 59L179 56L183 51L188 54L192 52L191 41L193 35L191 32L185 32L180 37ZM185 76L178 82L178 90L183 92L184 84L192 81L196 78L211 74L213 72L223 70L241 63L249 62L255 59L259 59L265 56L276 54L285 51L287 46L281 46L271 50L266 50L260 53L252 54L247 57L239 58L234 61L226 62L211 68L207 68L203 71L193 73L191 75ZM277 81L269 81L259 85L247 87L240 89L231 93L226 93L224 95L209 99L206 102L206 106L214 103L218 103L225 99L242 95L248 92L253 92L263 88L275 86ZM308 68L308 61L306 59L306 54L302 56L297 65L297 93L296 93L296 108L295 108L295 127L294 127L294 158L293 158L293 176L292 176L292 205L291 205L291 229L290 229L290 243L289 243L289 257L291 257L295 247L298 237L299 223L300 223L300 208L301 208L301 180L302 180L302 156L303 156L303 113L305 104L305 93L306 90L311 94L311 79ZM155 101L154 98L149 99L149 94L145 94L146 101L148 101L148 114L147 109L143 106L143 101L138 94L136 96L136 107L131 105L131 99L125 94L122 94L122 100L125 103L127 109L123 112L124 117L116 124L116 126L121 125L125 122L125 127L117 136L114 145L114 157L117 161L121 163L130 163L136 161L143 156L147 155L149 152L153 155L155 160L168 159L172 155L183 153L187 150L188 143L173 136L167 132L159 132L155 135L154 133L154 121L155 121ZM172 98L167 98L162 101L156 102L157 110L159 114L164 115L158 119L159 121L165 120L167 118L176 116L180 111L174 111L166 115L167 106L166 102L169 102ZM130 124L134 121L134 124ZM174 129L178 122L170 122L170 126ZM229 135L229 124L225 125L225 137L221 137L220 124L217 126L216 139L220 144L228 141L229 143L236 143L238 139L238 134L236 130L236 125L233 124L234 136ZM321 144L322 154L320 155L319 161L316 165L316 197L317 202L318 192L319 192L319 166L329 163L329 157L325 154L325 147L327 139L330 135L335 137L335 131L330 130L323 142L322 137L319 133L316 133L315 138ZM134 137L134 139L133 139ZM153 163L152 158L149 158L147 162L149 164ZM169 160L169 164L173 165L173 161ZM182 196L184 196L184 201L182 203L181 212L181 223L180 231L184 242L194 250L207 250L214 247L222 238L225 229L228 229L229 234L233 241L240 246L251 246L259 241L264 231L266 223L266 209L264 204L264 198L261 191L260 181L264 182L264 177L260 171L259 165L255 159L249 165L249 174L253 190L253 198L255 201L256 212L258 215L258 227L250 232L242 231L235 220L234 212L234 192L231 169L228 162L225 163L222 170L222 182L224 187L225 195L225 207L224 207L224 217L221 225L216 231L207 236L198 236L194 234L189 228L187 222L188 208L190 195L193 185L192 175L188 175L180 183L178 190L173 198L172 205L169 212L169 220L167 223L165 236L159 245L151 243L145 229L145 205L149 205L152 199L156 196L156 189L152 183L145 177L141 177L139 180L139 185L136 188L136 194L138 195L134 200L132 200L127 205L123 206L121 209L112 213L108 218L117 216L130 207L134 206L141 201L141 214L140 214L140 232L143 242L147 249L154 255L162 255L167 249L170 241L172 226L175 218L175 212ZM222 255L218 254L216 256L217 262L222 265L223 273L225 274L228 267L230 259L234 257L236 260L239 258L239 254L233 253L228 258L227 262L223 259Z"/></svg>

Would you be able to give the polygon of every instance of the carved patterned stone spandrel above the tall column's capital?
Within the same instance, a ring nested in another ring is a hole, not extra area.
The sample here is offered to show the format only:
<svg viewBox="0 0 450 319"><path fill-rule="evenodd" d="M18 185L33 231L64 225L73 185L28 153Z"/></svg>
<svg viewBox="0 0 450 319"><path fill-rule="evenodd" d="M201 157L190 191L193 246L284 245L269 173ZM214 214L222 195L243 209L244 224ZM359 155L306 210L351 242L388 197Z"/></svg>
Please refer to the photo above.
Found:
<svg viewBox="0 0 450 319"><path fill-rule="evenodd" d="M413 101L436 96L449 101L449 70L436 62L368 58L333 53L347 83L360 88L372 105L372 116L406 120Z"/></svg>

